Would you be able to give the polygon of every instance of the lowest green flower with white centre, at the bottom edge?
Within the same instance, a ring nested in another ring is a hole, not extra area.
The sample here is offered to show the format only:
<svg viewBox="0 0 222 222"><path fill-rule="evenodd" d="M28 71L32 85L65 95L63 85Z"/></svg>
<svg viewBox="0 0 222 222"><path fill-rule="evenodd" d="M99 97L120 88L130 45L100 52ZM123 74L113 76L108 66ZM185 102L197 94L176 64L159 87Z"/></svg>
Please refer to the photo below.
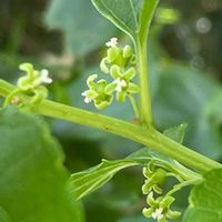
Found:
<svg viewBox="0 0 222 222"><path fill-rule="evenodd" d="M181 213L170 209L174 200L173 196L159 196L154 200L153 192L150 192L147 199L150 208L144 208L142 213L145 218L153 218L158 222L168 222L167 219L178 219Z"/></svg>

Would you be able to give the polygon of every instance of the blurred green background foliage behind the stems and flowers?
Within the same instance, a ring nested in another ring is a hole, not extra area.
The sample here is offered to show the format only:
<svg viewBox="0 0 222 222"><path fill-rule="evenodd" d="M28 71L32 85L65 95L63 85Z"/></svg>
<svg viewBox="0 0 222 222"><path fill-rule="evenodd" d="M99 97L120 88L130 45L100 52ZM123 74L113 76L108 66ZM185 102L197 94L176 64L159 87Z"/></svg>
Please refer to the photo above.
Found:
<svg viewBox="0 0 222 222"><path fill-rule="evenodd" d="M90 0L0 0L0 78L16 82L19 63L32 62L53 77L51 99L95 112L81 97L87 77L99 71L111 37L130 43ZM222 1L161 0L148 50L157 127L188 123L184 144L221 161ZM101 113L133 120L129 103L113 103ZM141 147L94 129L47 121L64 149L70 172L95 165L102 158L124 158ZM84 198L87 221L145 221L142 183L141 169L119 173ZM180 192L176 208L184 209L186 198L188 191Z"/></svg>

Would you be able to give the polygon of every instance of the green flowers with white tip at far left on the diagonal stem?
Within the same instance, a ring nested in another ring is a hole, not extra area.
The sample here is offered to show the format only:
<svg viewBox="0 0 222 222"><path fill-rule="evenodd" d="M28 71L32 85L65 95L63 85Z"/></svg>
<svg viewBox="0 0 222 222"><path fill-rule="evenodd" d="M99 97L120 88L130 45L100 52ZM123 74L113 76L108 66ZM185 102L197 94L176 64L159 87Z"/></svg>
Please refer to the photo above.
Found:
<svg viewBox="0 0 222 222"><path fill-rule="evenodd" d="M17 88L12 91L4 101L4 105L16 103L22 105L23 103L38 103L48 97L48 90L43 84L52 83L49 77L49 71L43 69L41 71L34 70L31 63L22 63L19 65L26 75L19 78ZM22 100L22 95L29 97L30 100Z"/></svg>

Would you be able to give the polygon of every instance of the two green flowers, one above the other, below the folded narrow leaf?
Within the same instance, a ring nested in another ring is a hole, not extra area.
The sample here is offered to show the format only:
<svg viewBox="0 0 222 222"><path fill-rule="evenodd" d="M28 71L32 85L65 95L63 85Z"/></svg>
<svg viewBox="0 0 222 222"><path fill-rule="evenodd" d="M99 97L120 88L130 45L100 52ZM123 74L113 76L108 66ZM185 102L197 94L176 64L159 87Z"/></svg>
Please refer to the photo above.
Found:
<svg viewBox="0 0 222 222"><path fill-rule="evenodd" d="M144 208L142 213L145 218L152 218L158 222L168 222L168 219L178 219L180 212L172 211L171 204L174 202L174 198L162 194L161 185L167 180L167 171L159 168L155 169L152 163L143 168L143 175L145 176L144 184L142 186L143 194L148 194L147 203L149 208ZM157 199L153 198L153 192L159 195Z"/></svg>

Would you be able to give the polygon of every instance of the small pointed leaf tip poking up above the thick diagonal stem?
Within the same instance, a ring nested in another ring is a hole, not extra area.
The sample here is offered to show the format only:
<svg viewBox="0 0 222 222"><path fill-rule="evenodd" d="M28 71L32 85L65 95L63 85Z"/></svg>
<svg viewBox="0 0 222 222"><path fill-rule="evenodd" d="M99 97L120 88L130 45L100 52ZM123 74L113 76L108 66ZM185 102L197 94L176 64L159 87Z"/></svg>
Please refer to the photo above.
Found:
<svg viewBox="0 0 222 222"><path fill-rule="evenodd" d="M180 124L179 127L174 127L174 128L170 128L170 129L165 130L163 132L163 134L165 134L167 137L169 137L170 139L179 142L179 143L182 143L186 127L188 125L185 123L183 123L183 124Z"/></svg>

